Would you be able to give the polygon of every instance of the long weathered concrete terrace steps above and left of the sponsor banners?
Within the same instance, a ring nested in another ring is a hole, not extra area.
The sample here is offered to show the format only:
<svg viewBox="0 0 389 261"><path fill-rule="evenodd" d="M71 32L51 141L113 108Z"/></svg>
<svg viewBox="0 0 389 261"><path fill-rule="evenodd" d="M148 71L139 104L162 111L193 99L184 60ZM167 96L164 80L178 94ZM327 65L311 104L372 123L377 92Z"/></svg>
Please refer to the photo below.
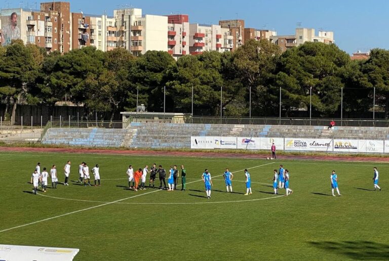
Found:
<svg viewBox="0 0 389 261"><path fill-rule="evenodd" d="M389 139L388 128L299 126L175 124L133 122L127 129L50 128L44 144L89 147L190 148L191 136L312 138L312 139Z"/></svg>

